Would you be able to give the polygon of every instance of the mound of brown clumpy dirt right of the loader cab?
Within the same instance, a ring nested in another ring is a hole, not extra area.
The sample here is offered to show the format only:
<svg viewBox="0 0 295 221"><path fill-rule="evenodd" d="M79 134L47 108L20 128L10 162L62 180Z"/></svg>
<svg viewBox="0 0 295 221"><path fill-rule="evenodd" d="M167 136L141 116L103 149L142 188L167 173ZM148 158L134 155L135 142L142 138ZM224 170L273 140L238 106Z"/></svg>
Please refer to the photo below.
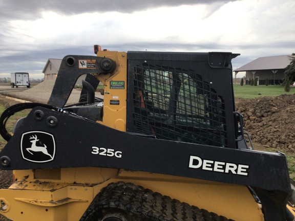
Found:
<svg viewBox="0 0 295 221"><path fill-rule="evenodd" d="M253 142L265 147L295 151L295 94L238 99L244 128Z"/></svg>

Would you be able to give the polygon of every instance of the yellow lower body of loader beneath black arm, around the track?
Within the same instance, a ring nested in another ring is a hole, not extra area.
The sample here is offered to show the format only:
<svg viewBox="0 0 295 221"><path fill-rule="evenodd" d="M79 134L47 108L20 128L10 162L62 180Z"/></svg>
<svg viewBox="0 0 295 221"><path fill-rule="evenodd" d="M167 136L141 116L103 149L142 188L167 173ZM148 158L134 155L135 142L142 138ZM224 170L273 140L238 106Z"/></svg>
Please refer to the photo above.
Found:
<svg viewBox="0 0 295 221"><path fill-rule="evenodd" d="M28 174L28 171L23 172ZM11 189L0 189L0 196L8 205L7 211L0 211L0 214L13 220L79 220L101 188L123 181L227 218L264 220L260 206L245 186L139 171L121 170L118 174L115 169L108 168L62 169L61 179L64 180L23 180ZM65 183L66 180L81 183ZM90 184L93 181L99 183Z"/></svg>

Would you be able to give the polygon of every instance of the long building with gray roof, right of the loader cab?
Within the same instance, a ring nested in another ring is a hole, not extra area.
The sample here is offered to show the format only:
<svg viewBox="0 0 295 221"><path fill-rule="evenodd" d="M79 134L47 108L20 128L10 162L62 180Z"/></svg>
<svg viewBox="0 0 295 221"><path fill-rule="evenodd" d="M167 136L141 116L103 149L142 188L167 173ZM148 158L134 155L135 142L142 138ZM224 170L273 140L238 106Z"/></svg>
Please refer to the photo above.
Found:
<svg viewBox="0 0 295 221"><path fill-rule="evenodd" d="M285 76L284 69L290 62L290 55L260 57L234 70L234 72L236 75L239 72L246 72L246 84L250 84L251 79L256 78L258 84L265 84L267 78L269 84L280 84Z"/></svg>

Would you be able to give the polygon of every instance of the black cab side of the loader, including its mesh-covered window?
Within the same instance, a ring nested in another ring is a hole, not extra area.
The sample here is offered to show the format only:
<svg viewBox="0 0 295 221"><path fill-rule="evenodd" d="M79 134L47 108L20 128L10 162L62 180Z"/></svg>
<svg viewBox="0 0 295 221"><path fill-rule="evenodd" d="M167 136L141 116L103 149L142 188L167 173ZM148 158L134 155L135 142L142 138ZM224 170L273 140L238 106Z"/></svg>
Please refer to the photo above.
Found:
<svg viewBox="0 0 295 221"><path fill-rule="evenodd" d="M231 53L128 52L127 130L236 148Z"/></svg>

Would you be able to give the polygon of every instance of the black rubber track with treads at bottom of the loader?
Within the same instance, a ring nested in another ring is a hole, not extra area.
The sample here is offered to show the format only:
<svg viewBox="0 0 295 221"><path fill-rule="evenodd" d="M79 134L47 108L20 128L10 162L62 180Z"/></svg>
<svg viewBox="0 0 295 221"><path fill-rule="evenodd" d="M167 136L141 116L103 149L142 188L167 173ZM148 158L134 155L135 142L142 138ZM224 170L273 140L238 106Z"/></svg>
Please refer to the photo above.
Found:
<svg viewBox="0 0 295 221"><path fill-rule="evenodd" d="M132 214L136 217L134 220L234 221L141 186L124 182L111 183L103 188L80 221L100 220L102 213L110 209Z"/></svg>

